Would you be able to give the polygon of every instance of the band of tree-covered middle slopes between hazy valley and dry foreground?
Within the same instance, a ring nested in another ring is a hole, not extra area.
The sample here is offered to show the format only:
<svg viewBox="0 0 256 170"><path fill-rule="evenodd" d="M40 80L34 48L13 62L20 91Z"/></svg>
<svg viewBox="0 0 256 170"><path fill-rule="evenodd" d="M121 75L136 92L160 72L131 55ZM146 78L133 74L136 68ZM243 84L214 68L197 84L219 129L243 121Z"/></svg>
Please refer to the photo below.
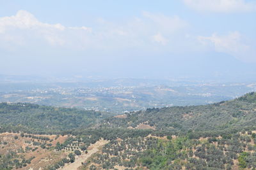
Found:
<svg viewBox="0 0 256 170"><path fill-rule="evenodd" d="M126 113L124 117L107 118L109 115L76 108L0 103L1 128L8 127L12 131L23 129L30 132L60 132L92 127L99 120L102 120L99 124L101 128L140 128L140 125L147 125L152 129L168 132L221 131L255 125L256 93L202 106L152 108Z"/></svg>

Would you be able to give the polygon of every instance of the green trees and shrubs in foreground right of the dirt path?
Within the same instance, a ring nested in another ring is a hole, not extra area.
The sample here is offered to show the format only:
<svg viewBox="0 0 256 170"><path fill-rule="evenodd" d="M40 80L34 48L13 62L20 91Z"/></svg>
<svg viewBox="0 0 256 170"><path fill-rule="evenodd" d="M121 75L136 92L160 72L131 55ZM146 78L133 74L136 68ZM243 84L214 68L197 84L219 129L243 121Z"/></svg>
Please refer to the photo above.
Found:
<svg viewBox="0 0 256 170"><path fill-rule="evenodd" d="M84 169L250 169L256 168L255 143L252 131L201 139L189 136L116 139L85 162Z"/></svg>

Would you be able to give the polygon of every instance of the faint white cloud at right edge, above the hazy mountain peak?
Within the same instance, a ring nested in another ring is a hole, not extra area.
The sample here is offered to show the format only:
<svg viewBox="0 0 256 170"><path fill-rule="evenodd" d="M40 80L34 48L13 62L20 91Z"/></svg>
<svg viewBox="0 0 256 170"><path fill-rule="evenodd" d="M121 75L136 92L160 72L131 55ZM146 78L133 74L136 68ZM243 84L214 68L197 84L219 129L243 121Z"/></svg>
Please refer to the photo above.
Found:
<svg viewBox="0 0 256 170"><path fill-rule="evenodd" d="M217 34L208 37L198 36L198 40L202 45L213 45L216 52L228 53L245 62L256 61L256 50L244 42L243 36L237 31L230 32L225 36L218 36Z"/></svg>

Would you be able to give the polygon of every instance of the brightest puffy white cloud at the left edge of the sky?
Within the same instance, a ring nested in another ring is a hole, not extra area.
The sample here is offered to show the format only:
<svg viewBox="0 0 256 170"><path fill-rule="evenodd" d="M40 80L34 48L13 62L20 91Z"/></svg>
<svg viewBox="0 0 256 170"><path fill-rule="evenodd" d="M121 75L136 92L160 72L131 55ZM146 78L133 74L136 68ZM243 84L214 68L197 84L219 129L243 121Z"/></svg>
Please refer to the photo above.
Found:
<svg viewBox="0 0 256 170"><path fill-rule="evenodd" d="M92 32L88 27L65 27L61 24L47 24L40 22L28 11L20 10L16 15L11 17L0 18L0 41L19 45L29 45L31 41L43 40L49 45L64 45L68 39L65 34L69 31L75 33L77 30ZM17 43L21 42L22 43Z"/></svg>

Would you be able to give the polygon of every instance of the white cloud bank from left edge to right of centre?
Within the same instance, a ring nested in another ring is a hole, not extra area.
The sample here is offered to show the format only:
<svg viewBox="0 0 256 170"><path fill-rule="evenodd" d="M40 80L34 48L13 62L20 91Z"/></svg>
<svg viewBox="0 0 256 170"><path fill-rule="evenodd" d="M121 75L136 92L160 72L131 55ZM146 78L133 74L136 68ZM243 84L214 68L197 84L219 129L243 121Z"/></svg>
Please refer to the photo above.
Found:
<svg viewBox="0 0 256 170"><path fill-rule="evenodd" d="M62 46L71 50L148 48L156 43L166 45L188 24L178 16L166 16L144 11L141 17L121 23L100 20L90 28L65 27L40 22L28 11L20 10L11 17L0 18L0 46ZM161 32L157 33L156 32ZM6 43L7 42L7 43ZM19 42L19 43L17 43Z"/></svg>

